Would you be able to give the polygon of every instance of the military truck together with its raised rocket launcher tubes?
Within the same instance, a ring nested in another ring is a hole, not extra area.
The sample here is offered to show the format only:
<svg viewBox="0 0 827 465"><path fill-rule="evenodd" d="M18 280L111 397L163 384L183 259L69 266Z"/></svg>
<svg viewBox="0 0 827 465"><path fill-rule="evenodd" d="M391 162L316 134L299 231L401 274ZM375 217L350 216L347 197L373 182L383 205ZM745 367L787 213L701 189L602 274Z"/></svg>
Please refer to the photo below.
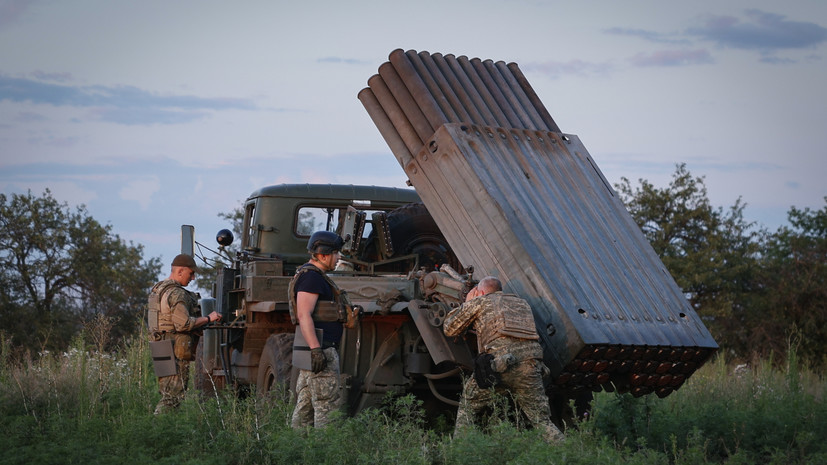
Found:
<svg viewBox="0 0 827 465"><path fill-rule="evenodd" d="M254 192L240 251L203 306L224 316L202 351L216 385L292 386L287 282L315 229L349 236L332 275L363 309L340 354L350 413L387 392L456 405L476 346L446 338L442 320L486 275L532 306L558 422L560 403L592 391L667 396L717 350L517 64L399 49L358 98L414 189Z"/></svg>

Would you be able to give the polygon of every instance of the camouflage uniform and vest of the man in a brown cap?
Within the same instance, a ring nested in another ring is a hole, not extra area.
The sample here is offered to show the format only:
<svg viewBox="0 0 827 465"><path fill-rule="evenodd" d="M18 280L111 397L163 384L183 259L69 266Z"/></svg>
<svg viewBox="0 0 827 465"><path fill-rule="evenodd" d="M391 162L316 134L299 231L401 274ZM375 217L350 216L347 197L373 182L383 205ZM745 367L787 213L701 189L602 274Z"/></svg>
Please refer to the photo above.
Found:
<svg viewBox="0 0 827 465"><path fill-rule="evenodd" d="M159 332L151 334L153 340L172 339L175 363L178 373L158 378L161 400L155 406L155 414L177 408L184 400L189 382L190 361L195 359L195 345L198 336L193 334L196 318L199 316L198 295L187 291L172 279L155 284L155 287L169 286L161 295L161 312L158 316Z"/></svg>

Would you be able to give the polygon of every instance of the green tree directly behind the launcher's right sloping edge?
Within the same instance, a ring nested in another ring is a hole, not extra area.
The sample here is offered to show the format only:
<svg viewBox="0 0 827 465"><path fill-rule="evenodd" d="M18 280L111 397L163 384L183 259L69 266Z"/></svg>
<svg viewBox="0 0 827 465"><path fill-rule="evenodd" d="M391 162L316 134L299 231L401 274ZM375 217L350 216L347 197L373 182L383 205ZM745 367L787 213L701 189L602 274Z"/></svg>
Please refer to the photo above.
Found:
<svg viewBox="0 0 827 465"><path fill-rule="evenodd" d="M615 189L718 343L732 345L742 331L732 322L745 311L758 266L760 231L744 220L746 205L739 198L726 211L713 208L704 179L685 164L666 188L639 182L633 188L622 178Z"/></svg>

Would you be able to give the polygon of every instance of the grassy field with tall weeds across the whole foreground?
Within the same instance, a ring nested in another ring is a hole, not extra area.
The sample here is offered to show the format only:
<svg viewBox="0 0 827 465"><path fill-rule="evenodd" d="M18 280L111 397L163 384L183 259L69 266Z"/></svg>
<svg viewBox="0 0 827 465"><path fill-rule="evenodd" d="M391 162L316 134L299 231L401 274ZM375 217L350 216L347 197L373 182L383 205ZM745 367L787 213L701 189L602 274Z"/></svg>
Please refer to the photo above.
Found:
<svg viewBox="0 0 827 465"><path fill-rule="evenodd" d="M452 437L426 428L411 397L294 431L291 407L250 396L190 397L155 417L157 382L140 340L117 354L19 356L0 338L0 464L824 464L824 380L795 358L781 369L721 360L665 399L598 393L592 414L550 446L493 420Z"/></svg>

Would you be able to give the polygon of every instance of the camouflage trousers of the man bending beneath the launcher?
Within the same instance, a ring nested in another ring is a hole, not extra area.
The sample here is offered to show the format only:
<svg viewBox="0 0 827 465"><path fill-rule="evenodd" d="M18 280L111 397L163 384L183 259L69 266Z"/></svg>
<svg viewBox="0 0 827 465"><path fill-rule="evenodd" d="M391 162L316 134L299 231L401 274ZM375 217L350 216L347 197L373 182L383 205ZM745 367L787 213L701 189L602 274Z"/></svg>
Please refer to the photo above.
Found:
<svg viewBox="0 0 827 465"><path fill-rule="evenodd" d="M495 395L510 394L517 407L548 442L563 440L563 433L551 422L551 408L543 388L543 366L537 359L527 359L500 373L502 381L493 388L482 389L473 376L465 381L457 410L456 432L474 423L490 406Z"/></svg>

